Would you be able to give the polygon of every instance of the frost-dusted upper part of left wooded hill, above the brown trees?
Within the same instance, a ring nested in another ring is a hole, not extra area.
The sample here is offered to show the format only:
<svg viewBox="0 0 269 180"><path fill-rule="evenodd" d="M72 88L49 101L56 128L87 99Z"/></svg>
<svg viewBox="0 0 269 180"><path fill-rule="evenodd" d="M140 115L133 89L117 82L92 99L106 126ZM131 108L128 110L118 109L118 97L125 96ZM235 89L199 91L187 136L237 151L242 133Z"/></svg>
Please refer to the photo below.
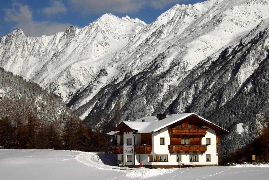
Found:
<svg viewBox="0 0 269 180"><path fill-rule="evenodd" d="M61 98L49 94L35 83L0 68L0 118L9 117L14 123L33 116L42 124L66 125L67 119L77 118Z"/></svg>

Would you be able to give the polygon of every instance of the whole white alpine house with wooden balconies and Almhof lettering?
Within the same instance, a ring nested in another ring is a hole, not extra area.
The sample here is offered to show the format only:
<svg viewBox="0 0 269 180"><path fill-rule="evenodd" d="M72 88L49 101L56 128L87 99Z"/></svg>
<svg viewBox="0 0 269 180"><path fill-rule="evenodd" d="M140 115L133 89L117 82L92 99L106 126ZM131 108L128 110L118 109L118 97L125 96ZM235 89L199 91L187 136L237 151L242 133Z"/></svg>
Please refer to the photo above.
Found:
<svg viewBox="0 0 269 180"><path fill-rule="evenodd" d="M220 135L229 131L194 114L159 114L121 122L107 135L119 164L138 167L217 166Z"/></svg>

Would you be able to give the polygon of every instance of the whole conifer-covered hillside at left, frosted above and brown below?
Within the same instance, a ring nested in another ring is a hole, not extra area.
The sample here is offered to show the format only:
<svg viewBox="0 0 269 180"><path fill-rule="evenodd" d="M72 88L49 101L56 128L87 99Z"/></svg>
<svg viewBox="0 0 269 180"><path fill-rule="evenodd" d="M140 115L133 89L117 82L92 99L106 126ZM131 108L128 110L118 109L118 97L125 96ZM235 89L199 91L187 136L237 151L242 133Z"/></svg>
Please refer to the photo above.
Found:
<svg viewBox="0 0 269 180"><path fill-rule="evenodd" d="M59 97L3 68L0 68L0 146L107 150L99 129L86 126Z"/></svg>

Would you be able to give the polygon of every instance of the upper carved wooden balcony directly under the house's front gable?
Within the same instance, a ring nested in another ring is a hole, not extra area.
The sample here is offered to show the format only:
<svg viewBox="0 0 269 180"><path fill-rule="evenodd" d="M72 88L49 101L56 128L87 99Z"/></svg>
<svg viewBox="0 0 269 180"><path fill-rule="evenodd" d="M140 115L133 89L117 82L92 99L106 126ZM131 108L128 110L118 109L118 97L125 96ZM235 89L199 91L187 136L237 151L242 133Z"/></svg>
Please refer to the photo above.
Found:
<svg viewBox="0 0 269 180"><path fill-rule="evenodd" d="M207 128L168 128L170 137L204 137Z"/></svg>

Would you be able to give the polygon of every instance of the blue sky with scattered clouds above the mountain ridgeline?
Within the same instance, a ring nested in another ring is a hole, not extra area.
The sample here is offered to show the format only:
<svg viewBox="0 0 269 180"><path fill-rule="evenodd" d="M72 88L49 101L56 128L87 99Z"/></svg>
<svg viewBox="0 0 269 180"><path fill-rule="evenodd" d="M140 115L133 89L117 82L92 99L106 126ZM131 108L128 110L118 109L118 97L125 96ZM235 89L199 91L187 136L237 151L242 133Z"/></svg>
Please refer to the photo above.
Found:
<svg viewBox="0 0 269 180"><path fill-rule="evenodd" d="M21 28L26 35L52 35L84 27L102 14L139 18L149 24L175 4L205 0L0 0L0 36Z"/></svg>

